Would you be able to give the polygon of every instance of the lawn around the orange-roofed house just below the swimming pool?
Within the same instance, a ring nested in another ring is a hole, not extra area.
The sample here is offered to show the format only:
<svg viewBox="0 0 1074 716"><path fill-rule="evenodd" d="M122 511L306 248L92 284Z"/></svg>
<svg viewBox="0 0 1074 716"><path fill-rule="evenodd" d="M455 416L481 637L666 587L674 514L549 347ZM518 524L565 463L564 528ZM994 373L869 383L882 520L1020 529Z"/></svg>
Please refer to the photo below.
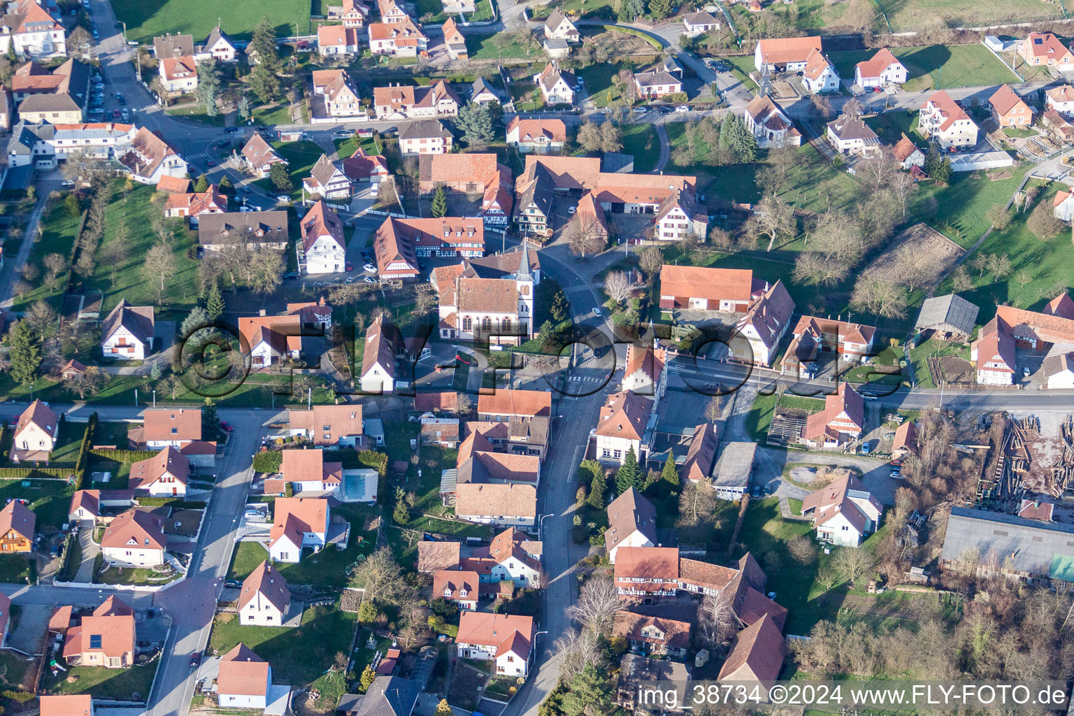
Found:
<svg viewBox="0 0 1074 716"><path fill-rule="evenodd" d="M346 550L329 547L317 554L304 551L302 561L295 564L279 562L276 565L279 573L291 584L313 584L326 587L342 587L347 584L347 568L358 558L359 554L368 555L376 544L376 532L361 531L365 515L373 514L378 508L358 505L342 505L334 508L335 514L344 515L351 521L350 542ZM228 579L242 580L249 575L268 553L257 542L240 542L231 558Z"/></svg>

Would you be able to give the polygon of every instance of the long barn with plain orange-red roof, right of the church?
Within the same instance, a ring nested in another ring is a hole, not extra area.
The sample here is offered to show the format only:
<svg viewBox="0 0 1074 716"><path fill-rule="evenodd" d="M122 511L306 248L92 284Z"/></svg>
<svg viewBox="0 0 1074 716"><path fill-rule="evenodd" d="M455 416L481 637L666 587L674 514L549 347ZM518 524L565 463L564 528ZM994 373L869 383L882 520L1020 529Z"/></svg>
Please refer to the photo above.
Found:
<svg viewBox="0 0 1074 716"><path fill-rule="evenodd" d="M661 269L661 310L711 310L744 313L768 290L749 268L666 265Z"/></svg>

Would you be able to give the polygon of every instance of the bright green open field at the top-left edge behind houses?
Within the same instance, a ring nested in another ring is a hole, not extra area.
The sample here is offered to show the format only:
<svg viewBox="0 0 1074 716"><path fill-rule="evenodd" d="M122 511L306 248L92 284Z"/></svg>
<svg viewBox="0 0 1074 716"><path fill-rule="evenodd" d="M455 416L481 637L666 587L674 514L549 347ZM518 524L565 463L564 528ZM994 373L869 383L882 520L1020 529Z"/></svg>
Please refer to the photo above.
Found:
<svg viewBox="0 0 1074 716"><path fill-rule="evenodd" d="M116 19L127 23L127 38L153 42L165 32L189 33L203 42L219 20L235 40L249 40L253 26L267 17L276 34L310 32L309 0L112 0Z"/></svg>

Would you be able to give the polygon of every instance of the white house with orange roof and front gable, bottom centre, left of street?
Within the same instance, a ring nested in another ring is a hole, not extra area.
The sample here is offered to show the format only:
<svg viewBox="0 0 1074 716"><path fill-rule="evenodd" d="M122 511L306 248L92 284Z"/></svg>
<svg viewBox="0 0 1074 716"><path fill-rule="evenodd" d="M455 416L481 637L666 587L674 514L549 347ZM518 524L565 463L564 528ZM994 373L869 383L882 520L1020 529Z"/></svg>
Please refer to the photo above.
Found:
<svg viewBox="0 0 1074 716"><path fill-rule="evenodd" d="M534 637L532 616L464 612L455 645L461 658L495 660L498 676L525 678Z"/></svg>

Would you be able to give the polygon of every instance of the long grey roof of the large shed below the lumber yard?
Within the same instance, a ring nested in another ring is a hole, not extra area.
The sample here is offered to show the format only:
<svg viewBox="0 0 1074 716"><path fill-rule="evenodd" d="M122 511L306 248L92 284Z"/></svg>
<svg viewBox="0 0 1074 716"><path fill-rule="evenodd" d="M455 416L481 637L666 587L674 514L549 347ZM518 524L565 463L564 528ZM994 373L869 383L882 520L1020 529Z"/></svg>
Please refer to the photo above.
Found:
<svg viewBox="0 0 1074 716"><path fill-rule="evenodd" d="M941 558L969 556L995 570L1074 581L1074 525L956 507L947 520Z"/></svg>

